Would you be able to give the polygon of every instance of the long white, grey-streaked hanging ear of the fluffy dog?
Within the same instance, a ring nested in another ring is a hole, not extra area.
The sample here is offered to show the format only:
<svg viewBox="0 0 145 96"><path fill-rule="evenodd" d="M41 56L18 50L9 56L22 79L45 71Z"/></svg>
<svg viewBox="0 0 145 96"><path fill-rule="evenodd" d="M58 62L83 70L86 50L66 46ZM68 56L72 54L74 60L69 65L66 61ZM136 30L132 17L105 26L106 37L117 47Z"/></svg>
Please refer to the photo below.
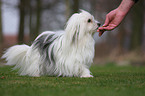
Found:
<svg viewBox="0 0 145 96"><path fill-rule="evenodd" d="M65 28L65 35L69 43L78 42L80 27L79 14L75 13L70 17Z"/></svg>

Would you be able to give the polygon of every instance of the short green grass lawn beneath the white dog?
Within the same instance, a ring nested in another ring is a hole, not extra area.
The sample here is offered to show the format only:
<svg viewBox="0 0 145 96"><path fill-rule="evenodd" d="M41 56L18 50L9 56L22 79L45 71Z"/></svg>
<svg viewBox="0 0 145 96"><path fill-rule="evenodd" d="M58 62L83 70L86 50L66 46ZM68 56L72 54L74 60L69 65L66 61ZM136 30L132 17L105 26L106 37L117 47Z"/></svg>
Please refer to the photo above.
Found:
<svg viewBox="0 0 145 96"><path fill-rule="evenodd" d="M94 78L19 76L0 67L0 96L145 96L145 67L92 66Z"/></svg>

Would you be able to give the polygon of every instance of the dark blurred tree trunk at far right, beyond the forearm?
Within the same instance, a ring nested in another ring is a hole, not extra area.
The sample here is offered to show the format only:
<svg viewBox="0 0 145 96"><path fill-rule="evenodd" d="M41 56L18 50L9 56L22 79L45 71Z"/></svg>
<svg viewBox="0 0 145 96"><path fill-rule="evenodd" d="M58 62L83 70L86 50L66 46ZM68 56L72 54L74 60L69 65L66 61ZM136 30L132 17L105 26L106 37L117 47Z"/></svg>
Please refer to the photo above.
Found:
<svg viewBox="0 0 145 96"><path fill-rule="evenodd" d="M141 47L143 35L143 0L139 1L132 12L131 50Z"/></svg>

